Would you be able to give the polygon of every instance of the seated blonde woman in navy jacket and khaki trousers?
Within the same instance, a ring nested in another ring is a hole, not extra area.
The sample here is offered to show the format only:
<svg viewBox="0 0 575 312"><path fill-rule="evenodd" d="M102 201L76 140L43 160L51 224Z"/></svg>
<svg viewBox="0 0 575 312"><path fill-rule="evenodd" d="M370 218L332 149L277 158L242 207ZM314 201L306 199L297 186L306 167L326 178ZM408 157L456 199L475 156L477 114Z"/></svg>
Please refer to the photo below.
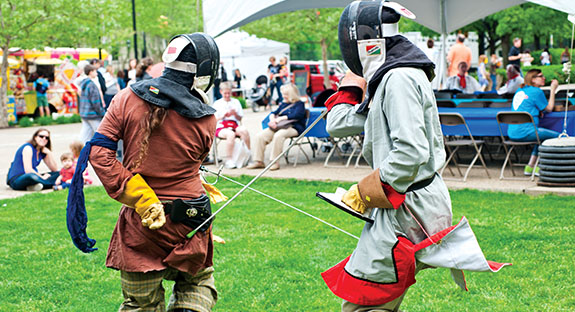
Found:
<svg viewBox="0 0 575 312"><path fill-rule="evenodd" d="M272 143L270 160L275 159L282 153L284 142L287 138L295 137L305 130L305 105L300 101L300 95L294 84L284 84L280 88L283 102L278 109L271 112L268 128L257 134L254 142L253 160L248 169L265 168L264 152L266 145ZM278 123L290 120L289 126L277 127ZM281 129L280 129L281 128ZM274 130L275 129L275 130ZM270 170L278 170L280 164L276 162Z"/></svg>

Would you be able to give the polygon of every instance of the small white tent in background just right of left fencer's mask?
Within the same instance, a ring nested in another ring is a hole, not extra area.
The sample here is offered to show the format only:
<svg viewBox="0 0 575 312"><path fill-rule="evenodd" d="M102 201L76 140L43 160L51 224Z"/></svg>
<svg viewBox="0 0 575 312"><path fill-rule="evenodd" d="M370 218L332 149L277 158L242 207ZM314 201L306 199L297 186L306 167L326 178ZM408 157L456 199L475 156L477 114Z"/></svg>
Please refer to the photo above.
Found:
<svg viewBox="0 0 575 312"><path fill-rule="evenodd" d="M249 81L243 88L252 87L259 75L267 73L269 57L289 56L289 44L257 38L243 31L229 31L216 39L228 79L233 80L233 70L238 68Z"/></svg>

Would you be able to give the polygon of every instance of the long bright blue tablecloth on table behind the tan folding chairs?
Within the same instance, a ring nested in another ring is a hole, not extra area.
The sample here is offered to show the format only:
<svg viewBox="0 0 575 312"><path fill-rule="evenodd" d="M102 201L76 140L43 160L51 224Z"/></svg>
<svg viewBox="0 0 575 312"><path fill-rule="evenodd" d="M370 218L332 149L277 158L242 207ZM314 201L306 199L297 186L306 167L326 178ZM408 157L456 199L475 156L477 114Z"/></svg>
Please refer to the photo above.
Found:
<svg viewBox="0 0 575 312"><path fill-rule="evenodd" d="M473 136L500 136L495 116L498 112L511 111L511 108L451 108L439 107L440 113L460 113ZM563 131L564 112L545 114L539 121L539 126L557 132ZM442 126L445 135L467 135L464 126ZM503 134L507 135L507 126L502 125ZM567 112L567 133L575 135L575 111Z"/></svg>

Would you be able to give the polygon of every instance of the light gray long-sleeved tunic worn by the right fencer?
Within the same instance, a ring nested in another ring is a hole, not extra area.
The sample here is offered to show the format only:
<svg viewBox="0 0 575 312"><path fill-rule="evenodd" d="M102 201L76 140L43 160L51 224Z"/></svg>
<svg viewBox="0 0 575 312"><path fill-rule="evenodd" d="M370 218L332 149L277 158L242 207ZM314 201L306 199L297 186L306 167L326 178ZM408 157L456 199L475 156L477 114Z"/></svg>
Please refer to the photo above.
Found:
<svg viewBox="0 0 575 312"><path fill-rule="evenodd" d="M335 137L365 133L363 156L379 168L381 181L398 192L431 178L445 162L441 125L435 97L425 73L395 68L383 77L372 95L367 116L359 105L339 104L327 117L327 131ZM403 235L417 244L452 224L451 200L439 175L428 186L407 192L399 209L374 209L345 269L351 275L377 283L396 282L392 248ZM417 257L417 254L416 254Z"/></svg>

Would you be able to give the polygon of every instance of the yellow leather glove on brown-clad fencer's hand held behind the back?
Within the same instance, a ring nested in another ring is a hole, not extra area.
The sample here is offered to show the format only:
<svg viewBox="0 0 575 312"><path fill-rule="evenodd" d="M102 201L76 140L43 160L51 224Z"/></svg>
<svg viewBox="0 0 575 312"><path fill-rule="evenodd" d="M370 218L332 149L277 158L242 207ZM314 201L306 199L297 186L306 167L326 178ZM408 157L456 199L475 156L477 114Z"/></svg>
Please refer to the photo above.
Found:
<svg viewBox="0 0 575 312"><path fill-rule="evenodd" d="M142 225L150 230L161 228L166 223L164 205L140 174L133 176L118 197L122 204L134 208L142 219Z"/></svg>

